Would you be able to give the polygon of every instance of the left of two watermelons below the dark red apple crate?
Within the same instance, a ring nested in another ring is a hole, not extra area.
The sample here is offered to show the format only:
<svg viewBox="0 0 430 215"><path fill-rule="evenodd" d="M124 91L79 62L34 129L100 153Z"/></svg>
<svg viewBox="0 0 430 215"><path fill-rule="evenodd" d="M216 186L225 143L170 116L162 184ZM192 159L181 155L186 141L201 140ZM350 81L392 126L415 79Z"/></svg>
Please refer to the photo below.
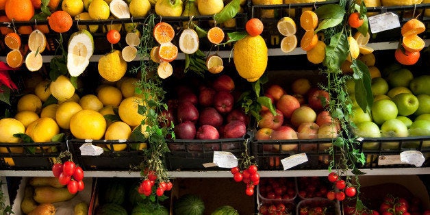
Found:
<svg viewBox="0 0 430 215"><path fill-rule="evenodd" d="M175 202L176 215L201 215L205 211L203 199L194 194L184 194Z"/></svg>

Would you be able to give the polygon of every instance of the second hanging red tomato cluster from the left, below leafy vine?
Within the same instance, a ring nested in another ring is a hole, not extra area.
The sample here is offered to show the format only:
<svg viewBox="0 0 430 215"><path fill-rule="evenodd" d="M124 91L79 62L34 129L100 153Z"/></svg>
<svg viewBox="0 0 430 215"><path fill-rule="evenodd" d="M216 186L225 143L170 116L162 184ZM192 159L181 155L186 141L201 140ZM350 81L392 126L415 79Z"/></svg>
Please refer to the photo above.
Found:
<svg viewBox="0 0 430 215"><path fill-rule="evenodd" d="M153 192L153 187L155 186L155 181L157 180L157 175L153 170L147 170L147 179L144 179L140 182L140 186L138 188L139 194L144 194L145 196L149 196ZM173 184L171 181L160 181L155 190L155 194L158 197L161 197L166 190L172 190Z"/></svg>

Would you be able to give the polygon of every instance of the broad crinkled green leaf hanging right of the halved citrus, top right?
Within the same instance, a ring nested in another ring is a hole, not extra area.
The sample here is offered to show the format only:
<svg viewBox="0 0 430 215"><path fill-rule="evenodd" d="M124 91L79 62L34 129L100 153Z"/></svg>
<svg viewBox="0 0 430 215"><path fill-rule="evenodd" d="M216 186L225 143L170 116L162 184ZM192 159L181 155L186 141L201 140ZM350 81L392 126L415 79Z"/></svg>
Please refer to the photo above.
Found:
<svg viewBox="0 0 430 215"><path fill-rule="evenodd" d="M330 44L325 47L324 65L331 71L337 71L346 60L348 53L349 46L346 35L339 32L330 38Z"/></svg>

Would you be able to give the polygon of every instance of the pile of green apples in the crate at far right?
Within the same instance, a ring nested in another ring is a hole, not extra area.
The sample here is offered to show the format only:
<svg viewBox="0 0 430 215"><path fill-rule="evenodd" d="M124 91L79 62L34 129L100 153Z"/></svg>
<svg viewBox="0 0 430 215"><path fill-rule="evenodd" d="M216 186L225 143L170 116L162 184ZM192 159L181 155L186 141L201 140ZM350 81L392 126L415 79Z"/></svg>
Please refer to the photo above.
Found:
<svg viewBox="0 0 430 215"><path fill-rule="evenodd" d="M372 108L364 112L354 101L354 81L346 82L353 101L351 121L355 134L363 138L430 136L430 75L414 77L414 73L399 64L383 69L372 78ZM366 142L364 149L377 149L377 143ZM383 142L382 149L397 149L399 142ZM415 148L415 144L403 145ZM422 147L430 147L425 141Z"/></svg>

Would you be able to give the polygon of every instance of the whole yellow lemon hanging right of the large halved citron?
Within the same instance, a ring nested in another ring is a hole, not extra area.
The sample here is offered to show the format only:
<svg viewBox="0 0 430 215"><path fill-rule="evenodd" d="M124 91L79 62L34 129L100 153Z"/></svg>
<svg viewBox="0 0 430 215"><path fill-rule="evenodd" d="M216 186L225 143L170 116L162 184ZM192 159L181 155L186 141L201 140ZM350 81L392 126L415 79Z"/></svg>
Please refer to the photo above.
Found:
<svg viewBox="0 0 430 215"><path fill-rule="evenodd" d="M125 62L121 56L121 51L114 50L101 56L98 68L99 74L104 79L108 81L118 81L127 71L127 62Z"/></svg>

